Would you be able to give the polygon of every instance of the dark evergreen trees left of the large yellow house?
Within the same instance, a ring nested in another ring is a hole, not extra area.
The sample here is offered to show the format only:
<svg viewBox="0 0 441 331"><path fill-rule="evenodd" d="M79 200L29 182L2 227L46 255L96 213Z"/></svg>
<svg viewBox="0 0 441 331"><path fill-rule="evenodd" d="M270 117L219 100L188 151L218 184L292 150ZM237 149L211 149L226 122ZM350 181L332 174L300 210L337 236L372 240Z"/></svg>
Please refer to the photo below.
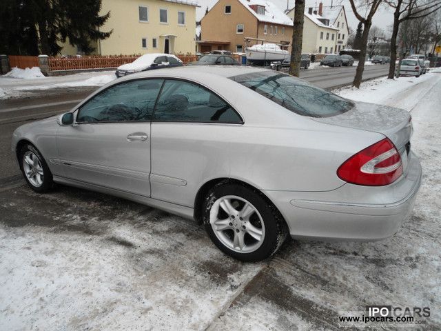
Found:
<svg viewBox="0 0 441 331"><path fill-rule="evenodd" d="M6 54L55 55L59 43L69 41L85 54L92 43L110 32L99 30L110 12L99 15L101 0L2 0L0 6L0 52Z"/></svg>

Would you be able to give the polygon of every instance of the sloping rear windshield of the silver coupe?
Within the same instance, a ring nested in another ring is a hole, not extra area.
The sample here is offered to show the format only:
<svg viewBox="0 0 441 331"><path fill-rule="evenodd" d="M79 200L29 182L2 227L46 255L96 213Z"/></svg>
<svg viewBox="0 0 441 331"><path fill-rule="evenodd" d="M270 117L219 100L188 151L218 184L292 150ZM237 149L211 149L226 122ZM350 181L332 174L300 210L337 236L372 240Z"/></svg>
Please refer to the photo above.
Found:
<svg viewBox="0 0 441 331"><path fill-rule="evenodd" d="M331 117L353 108L347 99L280 72L254 72L229 79L302 116Z"/></svg>

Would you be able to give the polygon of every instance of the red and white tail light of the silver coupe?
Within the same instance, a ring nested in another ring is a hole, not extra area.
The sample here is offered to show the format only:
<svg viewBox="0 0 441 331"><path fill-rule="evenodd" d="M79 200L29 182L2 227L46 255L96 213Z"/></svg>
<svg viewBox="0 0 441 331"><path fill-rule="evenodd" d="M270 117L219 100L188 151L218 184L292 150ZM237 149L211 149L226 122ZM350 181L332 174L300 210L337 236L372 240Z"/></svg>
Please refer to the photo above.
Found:
<svg viewBox="0 0 441 331"><path fill-rule="evenodd" d="M389 139L383 139L353 155L340 165L338 177L348 183L381 186L402 175L400 153Z"/></svg>

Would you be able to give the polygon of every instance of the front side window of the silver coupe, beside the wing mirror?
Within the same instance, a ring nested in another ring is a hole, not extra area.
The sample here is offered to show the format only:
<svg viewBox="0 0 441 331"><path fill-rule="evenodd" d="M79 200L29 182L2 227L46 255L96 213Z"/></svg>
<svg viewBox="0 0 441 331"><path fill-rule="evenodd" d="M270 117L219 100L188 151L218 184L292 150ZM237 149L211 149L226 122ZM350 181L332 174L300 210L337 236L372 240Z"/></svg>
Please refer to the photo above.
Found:
<svg viewBox="0 0 441 331"><path fill-rule="evenodd" d="M163 79L121 83L97 94L79 109L79 123L150 121Z"/></svg>

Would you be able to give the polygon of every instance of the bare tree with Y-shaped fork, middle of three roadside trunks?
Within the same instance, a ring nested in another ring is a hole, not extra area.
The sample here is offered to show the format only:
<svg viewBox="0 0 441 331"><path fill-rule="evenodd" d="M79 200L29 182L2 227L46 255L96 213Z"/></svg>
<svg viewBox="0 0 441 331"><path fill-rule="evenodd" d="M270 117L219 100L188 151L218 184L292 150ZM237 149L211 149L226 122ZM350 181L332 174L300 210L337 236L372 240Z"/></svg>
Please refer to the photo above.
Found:
<svg viewBox="0 0 441 331"><path fill-rule="evenodd" d="M382 0L349 0L349 2L351 3L353 14L356 15L358 21L360 21L364 26L362 42L360 45L360 59L358 61L356 76L353 77L352 82L353 86L355 86L356 88L360 88L363 71L365 70L367 40L369 37L369 30L372 26L372 17L377 12ZM366 14L362 16L359 10L362 10L363 8L366 10Z"/></svg>

